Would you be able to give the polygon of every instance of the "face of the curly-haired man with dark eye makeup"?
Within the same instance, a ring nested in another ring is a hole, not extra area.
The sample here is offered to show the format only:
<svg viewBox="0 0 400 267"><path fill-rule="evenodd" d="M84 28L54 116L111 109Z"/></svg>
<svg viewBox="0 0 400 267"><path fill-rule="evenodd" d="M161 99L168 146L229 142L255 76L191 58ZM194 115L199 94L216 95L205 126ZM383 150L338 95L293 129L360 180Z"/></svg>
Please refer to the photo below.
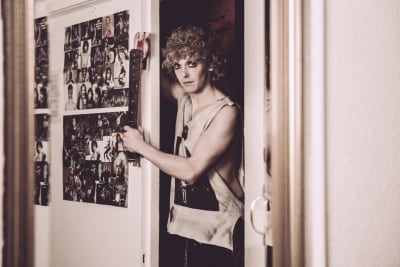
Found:
<svg viewBox="0 0 400 267"><path fill-rule="evenodd" d="M174 64L178 82L187 93L200 93L209 85L208 70L203 62L186 57Z"/></svg>

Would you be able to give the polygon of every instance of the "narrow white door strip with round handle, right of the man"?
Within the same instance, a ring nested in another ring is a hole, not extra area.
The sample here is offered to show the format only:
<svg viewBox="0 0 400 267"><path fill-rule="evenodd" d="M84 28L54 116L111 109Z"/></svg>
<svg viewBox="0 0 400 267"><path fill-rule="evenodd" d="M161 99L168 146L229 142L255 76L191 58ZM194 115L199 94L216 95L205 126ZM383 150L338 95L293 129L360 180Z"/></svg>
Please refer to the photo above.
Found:
<svg viewBox="0 0 400 267"><path fill-rule="evenodd" d="M245 2L245 264L267 266L266 217L266 46L263 0ZM253 204L253 205L252 205ZM251 219L253 206L253 223ZM267 233L269 234L269 233Z"/></svg>

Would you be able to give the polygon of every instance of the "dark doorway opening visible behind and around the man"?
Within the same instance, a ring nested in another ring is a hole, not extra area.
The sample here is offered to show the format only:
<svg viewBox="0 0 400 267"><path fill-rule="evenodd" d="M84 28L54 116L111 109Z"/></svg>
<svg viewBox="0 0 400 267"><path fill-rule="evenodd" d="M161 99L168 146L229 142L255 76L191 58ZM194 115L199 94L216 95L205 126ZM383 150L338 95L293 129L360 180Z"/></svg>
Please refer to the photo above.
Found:
<svg viewBox="0 0 400 267"><path fill-rule="evenodd" d="M163 0L160 2L160 48L171 31L183 24L209 26L224 48L227 75L217 87L244 110L244 1L243 0ZM160 59L161 60L161 59ZM160 148L173 153L176 104L160 99ZM168 267L169 193L171 178L160 172L160 250L159 266Z"/></svg>

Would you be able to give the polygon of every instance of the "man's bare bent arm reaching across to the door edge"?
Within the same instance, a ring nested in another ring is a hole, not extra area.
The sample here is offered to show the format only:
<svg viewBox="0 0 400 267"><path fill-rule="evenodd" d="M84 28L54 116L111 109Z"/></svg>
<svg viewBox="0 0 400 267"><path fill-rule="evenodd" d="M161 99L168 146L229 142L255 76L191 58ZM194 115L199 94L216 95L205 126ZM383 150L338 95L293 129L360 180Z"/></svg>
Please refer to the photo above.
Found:
<svg viewBox="0 0 400 267"><path fill-rule="evenodd" d="M200 136L191 157L188 158L154 148L143 140L140 130L128 126L121 137L129 151L141 154L165 173L192 184L227 150L235 136L237 123L237 108L222 108L209 128Z"/></svg>

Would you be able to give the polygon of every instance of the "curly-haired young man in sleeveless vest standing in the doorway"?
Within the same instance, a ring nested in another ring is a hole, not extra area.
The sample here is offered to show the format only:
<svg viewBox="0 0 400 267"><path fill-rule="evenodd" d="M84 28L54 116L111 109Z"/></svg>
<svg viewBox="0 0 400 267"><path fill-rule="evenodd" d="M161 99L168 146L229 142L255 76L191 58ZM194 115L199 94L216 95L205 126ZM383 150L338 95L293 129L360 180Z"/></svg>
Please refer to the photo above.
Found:
<svg viewBox="0 0 400 267"><path fill-rule="evenodd" d="M171 266L243 266L243 189L239 181L242 125L238 106L214 80L225 64L214 37L201 27L181 26L163 50L163 68L177 82L162 81L177 101L175 154L124 127L129 151L174 177L168 232L175 239Z"/></svg>

